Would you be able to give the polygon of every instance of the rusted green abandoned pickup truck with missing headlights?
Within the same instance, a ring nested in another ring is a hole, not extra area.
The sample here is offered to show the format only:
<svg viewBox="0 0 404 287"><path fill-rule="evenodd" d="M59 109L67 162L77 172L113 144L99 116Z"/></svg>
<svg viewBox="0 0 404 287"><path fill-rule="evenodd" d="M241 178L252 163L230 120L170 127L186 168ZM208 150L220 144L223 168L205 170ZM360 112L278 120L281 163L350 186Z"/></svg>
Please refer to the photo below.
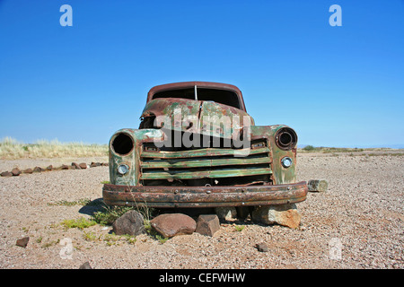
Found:
<svg viewBox="0 0 404 287"><path fill-rule="evenodd" d="M105 204L242 208L306 198L306 182L295 182L294 129L255 126L231 84L155 86L140 119L110 138Z"/></svg>

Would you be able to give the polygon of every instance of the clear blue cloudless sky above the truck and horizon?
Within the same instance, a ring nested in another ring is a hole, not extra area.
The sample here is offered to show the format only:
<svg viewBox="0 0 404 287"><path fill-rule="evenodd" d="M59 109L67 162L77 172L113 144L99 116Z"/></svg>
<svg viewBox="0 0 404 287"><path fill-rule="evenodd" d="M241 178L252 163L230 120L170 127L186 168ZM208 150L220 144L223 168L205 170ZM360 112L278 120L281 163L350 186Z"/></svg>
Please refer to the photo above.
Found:
<svg viewBox="0 0 404 287"><path fill-rule="evenodd" d="M300 144L404 147L404 1L0 0L0 138L108 143L184 81L238 86Z"/></svg>

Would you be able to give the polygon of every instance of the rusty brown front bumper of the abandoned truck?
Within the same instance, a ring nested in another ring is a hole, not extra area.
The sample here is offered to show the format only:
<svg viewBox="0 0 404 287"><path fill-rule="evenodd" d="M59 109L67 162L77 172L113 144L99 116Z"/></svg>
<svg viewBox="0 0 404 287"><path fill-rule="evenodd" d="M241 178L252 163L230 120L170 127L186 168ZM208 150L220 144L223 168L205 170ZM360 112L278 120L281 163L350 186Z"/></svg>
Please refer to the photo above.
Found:
<svg viewBox="0 0 404 287"><path fill-rule="evenodd" d="M220 207L294 204L307 196L305 181L277 186L133 187L106 184L105 204L150 207Z"/></svg>

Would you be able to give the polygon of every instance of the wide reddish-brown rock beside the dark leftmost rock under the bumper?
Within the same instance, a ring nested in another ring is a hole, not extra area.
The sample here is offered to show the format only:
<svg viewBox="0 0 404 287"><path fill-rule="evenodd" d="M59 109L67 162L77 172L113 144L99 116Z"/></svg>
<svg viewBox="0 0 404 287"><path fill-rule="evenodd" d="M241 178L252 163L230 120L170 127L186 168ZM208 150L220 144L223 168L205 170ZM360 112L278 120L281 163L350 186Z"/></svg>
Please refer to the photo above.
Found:
<svg viewBox="0 0 404 287"><path fill-rule="evenodd" d="M165 238L176 235L192 234L197 229L197 222L182 213L165 213L155 217L151 222L154 230Z"/></svg>

